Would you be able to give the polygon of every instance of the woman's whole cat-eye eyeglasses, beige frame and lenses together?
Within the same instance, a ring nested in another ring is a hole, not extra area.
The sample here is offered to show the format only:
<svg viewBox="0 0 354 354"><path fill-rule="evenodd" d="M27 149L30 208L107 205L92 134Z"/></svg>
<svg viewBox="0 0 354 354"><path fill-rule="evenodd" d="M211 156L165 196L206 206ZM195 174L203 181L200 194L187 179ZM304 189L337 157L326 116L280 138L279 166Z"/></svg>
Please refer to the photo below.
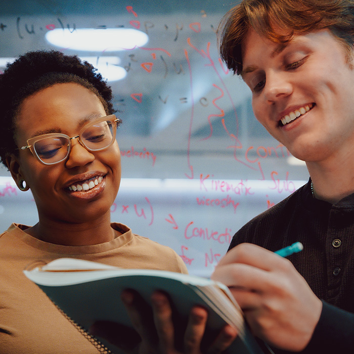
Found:
<svg viewBox="0 0 354 354"><path fill-rule="evenodd" d="M65 160L71 150L71 140L78 142L89 151L107 149L115 140L117 125L121 122L114 114L101 117L82 127L79 135L70 138L66 134L50 133L27 140L20 149L29 149L39 162L54 165Z"/></svg>

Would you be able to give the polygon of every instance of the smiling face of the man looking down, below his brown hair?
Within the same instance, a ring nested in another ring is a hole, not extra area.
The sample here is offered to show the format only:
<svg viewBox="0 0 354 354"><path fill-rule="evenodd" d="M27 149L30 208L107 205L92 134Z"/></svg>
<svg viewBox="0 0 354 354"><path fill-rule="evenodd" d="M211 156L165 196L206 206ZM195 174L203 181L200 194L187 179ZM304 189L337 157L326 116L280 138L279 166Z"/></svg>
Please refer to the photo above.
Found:
<svg viewBox="0 0 354 354"><path fill-rule="evenodd" d="M328 31L295 35L285 46L250 30L242 77L259 122L304 161L333 159L354 143L354 70Z"/></svg>

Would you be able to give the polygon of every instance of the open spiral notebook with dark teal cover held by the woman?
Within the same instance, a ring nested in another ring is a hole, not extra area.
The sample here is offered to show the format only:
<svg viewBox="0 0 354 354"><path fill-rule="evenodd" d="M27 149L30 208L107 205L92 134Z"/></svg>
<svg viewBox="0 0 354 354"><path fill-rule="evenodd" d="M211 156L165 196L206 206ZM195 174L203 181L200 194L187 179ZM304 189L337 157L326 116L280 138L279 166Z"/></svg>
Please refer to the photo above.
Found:
<svg viewBox="0 0 354 354"><path fill-rule="evenodd" d="M190 308L195 304L207 308L206 337L211 338L225 323L236 327L238 338L226 353L263 353L249 332L242 311L229 289L209 279L167 271L122 269L74 258L59 258L25 270L24 274L48 295L85 336L89 336L87 330L97 320L131 327L120 300L123 289L137 290L148 302L151 293L158 289L170 295L181 319L188 318ZM89 339L96 342L95 338ZM123 353L106 340L98 339L106 346L106 352Z"/></svg>

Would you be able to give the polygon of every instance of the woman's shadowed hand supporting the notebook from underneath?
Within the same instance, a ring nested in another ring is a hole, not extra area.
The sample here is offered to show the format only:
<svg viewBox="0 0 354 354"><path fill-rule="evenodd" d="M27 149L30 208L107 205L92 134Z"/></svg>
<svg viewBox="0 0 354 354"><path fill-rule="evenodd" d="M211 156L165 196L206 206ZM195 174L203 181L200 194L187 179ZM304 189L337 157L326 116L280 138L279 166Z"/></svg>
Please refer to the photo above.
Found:
<svg viewBox="0 0 354 354"><path fill-rule="evenodd" d="M107 339L129 354L201 354L207 321L203 307L192 307L186 324L172 312L167 295L160 291L152 294L151 306L132 290L125 290L121 298L135 331L116 323L97 322L91 329L92 334ZM225 326L203 353L221 353L236 335L236 329Z"/></svg>

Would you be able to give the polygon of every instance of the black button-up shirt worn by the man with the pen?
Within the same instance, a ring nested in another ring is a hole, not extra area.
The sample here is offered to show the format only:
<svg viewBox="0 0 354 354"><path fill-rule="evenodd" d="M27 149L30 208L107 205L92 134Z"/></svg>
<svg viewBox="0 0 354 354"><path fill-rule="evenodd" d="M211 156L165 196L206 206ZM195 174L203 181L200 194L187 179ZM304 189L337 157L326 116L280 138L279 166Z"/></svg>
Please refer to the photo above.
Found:
<svg viewBox="0 0 354 354"><path fill-rule="evenodd" d="M314 198L309 182L242 227L229 249L249 242L276 251L297 241L303 250L288 259L324 302L304 352L354 353L354 194L332 205Z"/></svg>

